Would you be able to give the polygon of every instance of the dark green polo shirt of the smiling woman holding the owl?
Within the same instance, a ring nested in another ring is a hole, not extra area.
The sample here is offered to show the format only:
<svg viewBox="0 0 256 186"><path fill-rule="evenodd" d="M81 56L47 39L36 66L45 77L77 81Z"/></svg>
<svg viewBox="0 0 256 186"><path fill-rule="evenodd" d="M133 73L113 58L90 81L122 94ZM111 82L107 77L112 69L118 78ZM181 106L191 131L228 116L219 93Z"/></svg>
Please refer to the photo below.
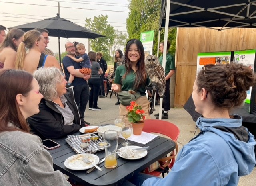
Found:
<svg viewBox="0 0 256 186"><path fill-rule="evenodd" d="M125 91L134 90L133 86L134 86L134 81L136 78L136 73L133 70L131 70L131 72L126 75L125 79L122 79L125 72L126 72L126 69L125 69L124 65L118 66L116 68L114 83L121 84L122 85L121 90L125 90ZM148 78L146 80L146 84L141 86L139 88L139 90L136 92L140 92L141 96L145 96L146 95L146 85L148 85L149 82L150 82L150 78L148 76Z"/></svg>

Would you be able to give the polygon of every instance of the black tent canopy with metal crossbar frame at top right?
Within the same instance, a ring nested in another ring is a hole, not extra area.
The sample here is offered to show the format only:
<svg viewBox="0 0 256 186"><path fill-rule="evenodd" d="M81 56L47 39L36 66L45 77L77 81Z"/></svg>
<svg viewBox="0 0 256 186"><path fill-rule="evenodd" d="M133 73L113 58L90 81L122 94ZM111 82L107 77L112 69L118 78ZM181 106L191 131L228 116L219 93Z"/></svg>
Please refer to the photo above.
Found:
<svg viewBox="0 0 256 186"><path fill-rule="evenodd" d="M250 0L162 0L160 28L165 27L256 28L256 4Z"/></svg>

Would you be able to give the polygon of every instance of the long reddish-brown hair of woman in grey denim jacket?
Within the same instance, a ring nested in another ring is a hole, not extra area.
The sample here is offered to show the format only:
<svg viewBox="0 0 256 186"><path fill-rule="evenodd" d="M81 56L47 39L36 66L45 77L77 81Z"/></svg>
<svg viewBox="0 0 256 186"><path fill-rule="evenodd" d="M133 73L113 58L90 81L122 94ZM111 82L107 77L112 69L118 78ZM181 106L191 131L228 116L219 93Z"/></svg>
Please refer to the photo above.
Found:
<svg viewBox="0 0 256 186"><path fill-rule="evenodd" d="M32 80L32 74L23 70L0 70L0 131L30 131L16 101L16 95L27 96L32 90ZM9 127L8 122L14 123L16 127Z"/></svg>

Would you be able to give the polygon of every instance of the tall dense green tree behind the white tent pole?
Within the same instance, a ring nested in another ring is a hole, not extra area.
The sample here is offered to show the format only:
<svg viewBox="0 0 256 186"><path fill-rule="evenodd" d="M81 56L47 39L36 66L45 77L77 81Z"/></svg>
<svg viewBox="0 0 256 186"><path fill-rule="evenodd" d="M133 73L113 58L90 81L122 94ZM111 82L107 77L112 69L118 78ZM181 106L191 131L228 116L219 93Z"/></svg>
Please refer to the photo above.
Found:
<svg viewBox="0 0 256 186"><path fill-rule="evenodd" d="M129 39L140 39L141 32L154 30L153 54L157 54L161 1L129 0L129 2L130 12L126 20ZM169 51L173 55L175 55L176 32L176 28L170 28L168 31L168 40L171 42ZM160 42L162 40L164 40L164 29L160 32Z"/></svg>

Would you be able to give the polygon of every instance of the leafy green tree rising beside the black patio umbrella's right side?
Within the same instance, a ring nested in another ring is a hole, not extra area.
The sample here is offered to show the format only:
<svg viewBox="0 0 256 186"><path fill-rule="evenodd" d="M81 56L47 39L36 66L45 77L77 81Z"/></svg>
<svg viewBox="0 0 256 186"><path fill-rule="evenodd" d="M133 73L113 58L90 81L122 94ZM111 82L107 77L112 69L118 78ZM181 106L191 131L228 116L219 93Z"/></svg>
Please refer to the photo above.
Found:
<svg viewBox="0 0 256 186"><path fill-rule="evenodd" d="M90 48L95 52L102 52L103 57L106 61L111 59L109 55L109 49L113 45L115 31L114 27L108 24L108 16L99 15L98 17L94 16L94 19L86 18L85 27L94 31L100 35L106 37L100 37L96 39L90 39Z"/></svg>

